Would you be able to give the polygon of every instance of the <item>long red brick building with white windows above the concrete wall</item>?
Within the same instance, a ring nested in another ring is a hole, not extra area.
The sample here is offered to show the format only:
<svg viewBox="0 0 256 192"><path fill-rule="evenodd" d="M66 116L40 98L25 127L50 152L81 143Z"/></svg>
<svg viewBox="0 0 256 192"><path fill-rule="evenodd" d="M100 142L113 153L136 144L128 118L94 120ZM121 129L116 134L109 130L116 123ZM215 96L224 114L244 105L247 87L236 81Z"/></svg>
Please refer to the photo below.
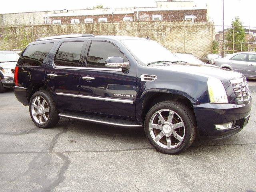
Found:
<svg viewBox="0 0 256 192"><path fill-rule="evenodd" d="M100 12L101 10L101 12ZM95 22L129 22L150 20L191 20L206 22L207 8L126 8L81 10L80 12L53 13L44 15L45 24L74 24Z"/></svg>

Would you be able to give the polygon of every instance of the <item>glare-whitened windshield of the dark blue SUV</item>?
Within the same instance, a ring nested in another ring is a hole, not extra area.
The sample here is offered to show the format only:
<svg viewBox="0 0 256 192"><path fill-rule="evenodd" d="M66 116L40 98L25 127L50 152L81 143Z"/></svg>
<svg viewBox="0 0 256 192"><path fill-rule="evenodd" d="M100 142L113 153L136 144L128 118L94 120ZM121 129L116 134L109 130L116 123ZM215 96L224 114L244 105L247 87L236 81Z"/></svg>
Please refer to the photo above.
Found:
<svg viewBox="0 0 256 192"><path fill-rule="evenodd" d="M168 49L152 40L129 39L121 40L138 62L144 66L158 61L178 61L179 58Z"/></svg>

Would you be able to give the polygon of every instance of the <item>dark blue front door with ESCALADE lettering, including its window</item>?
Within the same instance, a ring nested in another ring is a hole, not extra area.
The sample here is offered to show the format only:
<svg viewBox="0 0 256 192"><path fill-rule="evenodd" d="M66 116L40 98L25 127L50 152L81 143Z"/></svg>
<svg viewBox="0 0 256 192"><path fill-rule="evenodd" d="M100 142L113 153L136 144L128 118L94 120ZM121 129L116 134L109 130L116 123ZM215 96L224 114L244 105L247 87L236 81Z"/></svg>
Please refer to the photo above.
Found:
<svg viewBox="0 0 256 192"><path fill-rule="evenodd" d="M88 43L89 44L89 43ZM87 56L87 65L80 74L80 103L87 113L112 117L135 118L136 63L130 69L106 68L110 56L126 56L111 42L92 41Z"/></svg>

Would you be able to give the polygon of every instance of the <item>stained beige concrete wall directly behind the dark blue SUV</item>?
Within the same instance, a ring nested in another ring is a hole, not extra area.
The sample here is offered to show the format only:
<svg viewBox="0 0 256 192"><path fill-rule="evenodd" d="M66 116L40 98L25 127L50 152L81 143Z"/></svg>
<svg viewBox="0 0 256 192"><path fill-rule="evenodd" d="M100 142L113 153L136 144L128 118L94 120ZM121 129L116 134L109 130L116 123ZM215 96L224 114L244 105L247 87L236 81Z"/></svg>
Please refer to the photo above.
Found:
<svg viewBox="0 0 256 192"><path fill-rule="evenodd" d="M116 22L92 24L38 25L0 28L2 50L22 49L37 38L62 34L120 35L156 40L174 52L192 52L197 57L209 52L215 39L212 22Z"/></svg>

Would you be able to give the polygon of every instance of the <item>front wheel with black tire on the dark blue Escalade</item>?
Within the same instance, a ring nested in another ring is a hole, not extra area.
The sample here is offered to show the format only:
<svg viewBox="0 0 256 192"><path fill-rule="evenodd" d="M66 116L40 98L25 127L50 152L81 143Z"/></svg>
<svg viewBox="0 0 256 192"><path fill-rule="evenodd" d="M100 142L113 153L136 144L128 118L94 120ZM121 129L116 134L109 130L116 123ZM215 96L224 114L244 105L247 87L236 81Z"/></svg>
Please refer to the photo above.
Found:
<svg viewBox="0 0 256 192"><path fill-rule="evenodd" d="M163 117L164 123L160 120L159 113ZM169 115L171 115L170 120ZM180 125L184 126L179 127ZM152 126L157 126L157 128L152 128ZM186 150L194 142L196 138L196 120L192 111L184 104L176 101L164 101L155 104L148 111L144 122L144 130L150 144L156 150L165 154L176 154ZM162 138L159 139L161 136Z"/></svg>

